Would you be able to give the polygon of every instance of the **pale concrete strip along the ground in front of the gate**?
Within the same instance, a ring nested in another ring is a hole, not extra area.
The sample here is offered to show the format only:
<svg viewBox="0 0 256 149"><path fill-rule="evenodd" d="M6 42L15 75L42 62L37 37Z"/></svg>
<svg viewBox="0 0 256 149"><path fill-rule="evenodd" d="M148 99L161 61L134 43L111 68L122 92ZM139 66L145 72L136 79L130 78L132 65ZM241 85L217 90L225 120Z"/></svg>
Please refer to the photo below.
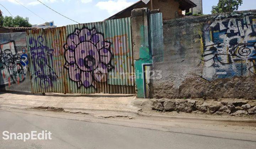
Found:
<svg viewBox="0 0 256 149"><path fill-rule="evenodd" d="M0 93L0 106L14 108L61 107L65 111L115 111L136 114L139 107L133 106L133 95L121 94L58 94L47 93Z"/></svg>

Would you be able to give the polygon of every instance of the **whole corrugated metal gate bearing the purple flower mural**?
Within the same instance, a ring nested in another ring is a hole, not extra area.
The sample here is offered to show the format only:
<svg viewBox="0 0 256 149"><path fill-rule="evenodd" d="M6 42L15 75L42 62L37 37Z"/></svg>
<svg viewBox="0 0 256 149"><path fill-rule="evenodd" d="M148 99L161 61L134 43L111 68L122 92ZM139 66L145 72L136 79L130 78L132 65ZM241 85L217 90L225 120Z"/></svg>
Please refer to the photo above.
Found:
<svg viewBox="0 0 256 149"><path fill-rule="evenodd" d="M130 18L26 32L33 93L134 94Z"/></svg>

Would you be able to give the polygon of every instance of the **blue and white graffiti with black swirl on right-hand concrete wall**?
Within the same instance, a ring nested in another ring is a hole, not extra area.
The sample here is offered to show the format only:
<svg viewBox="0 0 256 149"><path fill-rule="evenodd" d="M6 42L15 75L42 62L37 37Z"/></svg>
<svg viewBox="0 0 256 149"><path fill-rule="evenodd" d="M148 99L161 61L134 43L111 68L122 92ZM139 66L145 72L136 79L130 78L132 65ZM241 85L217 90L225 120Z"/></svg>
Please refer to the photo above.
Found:
<svg viewBox="0 0 256 149"><path fill-rule="evenodd" d="M256 74L256 19L231 18L204 27L203 77L209 80Z"/></svg>

